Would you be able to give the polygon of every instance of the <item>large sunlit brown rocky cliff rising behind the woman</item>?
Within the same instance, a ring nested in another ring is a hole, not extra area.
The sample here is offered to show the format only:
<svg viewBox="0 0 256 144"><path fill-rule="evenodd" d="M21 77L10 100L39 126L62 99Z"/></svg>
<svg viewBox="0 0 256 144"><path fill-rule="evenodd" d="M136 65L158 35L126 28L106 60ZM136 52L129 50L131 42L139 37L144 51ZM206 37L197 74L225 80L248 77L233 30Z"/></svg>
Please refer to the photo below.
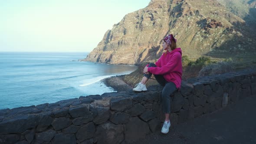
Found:
<svg viewBox="0 0 256 144"><path fill-rule="evenodd" d="M246 21L218 0L151 0L128 13L105 33L85 59L112 64L152 62L163 52L169 33L184 55L219 56L255 53L255 39Z"/></svg>

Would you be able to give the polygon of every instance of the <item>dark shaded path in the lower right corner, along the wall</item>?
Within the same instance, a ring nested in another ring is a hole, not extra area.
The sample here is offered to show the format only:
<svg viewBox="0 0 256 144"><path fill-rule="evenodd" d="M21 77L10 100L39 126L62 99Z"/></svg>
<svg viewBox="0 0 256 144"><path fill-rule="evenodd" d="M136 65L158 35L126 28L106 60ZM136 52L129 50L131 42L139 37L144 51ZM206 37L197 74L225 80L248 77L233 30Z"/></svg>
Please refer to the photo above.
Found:
<svg viewBox="0 0 256 144"><path fill-rule="evenodd" d="M248 97L211 114L160 130L138 144L256 144L256 97Z"/></svg>

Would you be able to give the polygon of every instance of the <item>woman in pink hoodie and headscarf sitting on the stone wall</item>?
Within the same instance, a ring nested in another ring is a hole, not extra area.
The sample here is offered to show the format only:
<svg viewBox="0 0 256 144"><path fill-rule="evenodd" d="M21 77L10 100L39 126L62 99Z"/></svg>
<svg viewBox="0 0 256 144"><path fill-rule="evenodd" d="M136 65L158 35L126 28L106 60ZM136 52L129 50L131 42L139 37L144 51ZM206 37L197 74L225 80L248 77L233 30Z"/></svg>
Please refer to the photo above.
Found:
<svg viewBox="0 0 256 144"><path fill-rule="evenodd" d="M181 88L182 62L181 48L177 48L177 39L173 35L168 35L163 39L163 49L166 50L163 55L154 63L147 65L144 70L144 76L140 83L135 85L133 91L147 91L145 83L154 74L158 83L164 86L162 90L162 104L165 120L161 132L167 134L171 126L169 120L171 109L170 95Z"/></svg>

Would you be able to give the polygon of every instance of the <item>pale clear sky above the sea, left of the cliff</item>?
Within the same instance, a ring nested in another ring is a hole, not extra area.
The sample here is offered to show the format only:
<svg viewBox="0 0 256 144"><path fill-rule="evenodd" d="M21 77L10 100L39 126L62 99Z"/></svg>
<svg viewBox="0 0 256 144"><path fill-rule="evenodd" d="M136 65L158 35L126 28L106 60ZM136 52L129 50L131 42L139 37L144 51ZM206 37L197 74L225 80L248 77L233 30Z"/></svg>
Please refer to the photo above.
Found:
<svg viewBox="0 0 256 144"><path fill-rule="evenodd" d="M151 0L0 0L0 52L91 52Z"/></svg>

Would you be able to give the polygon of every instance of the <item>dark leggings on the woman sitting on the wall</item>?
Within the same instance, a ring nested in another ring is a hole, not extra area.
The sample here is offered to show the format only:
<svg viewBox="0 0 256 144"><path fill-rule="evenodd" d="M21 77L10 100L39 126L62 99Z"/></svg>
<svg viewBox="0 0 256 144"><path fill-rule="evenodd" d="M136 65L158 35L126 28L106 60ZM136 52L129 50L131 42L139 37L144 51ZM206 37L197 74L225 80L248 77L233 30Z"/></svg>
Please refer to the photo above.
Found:
<svg viewBox="0 0 256 144"><path fill-rule="evenodd" d="M148 67L157 67L154 63L150 63ZM151 77L151 73L146 74L144 73L144 76L148 79ZM162 104L163 104L163 112L164 114L170 114L171 111L171 97L170 95L177 90L176 85L173 82L167 82L164 79L163 75L154 75L158 83L162 86L164 86L164 89L162 90Z"/></svg>

